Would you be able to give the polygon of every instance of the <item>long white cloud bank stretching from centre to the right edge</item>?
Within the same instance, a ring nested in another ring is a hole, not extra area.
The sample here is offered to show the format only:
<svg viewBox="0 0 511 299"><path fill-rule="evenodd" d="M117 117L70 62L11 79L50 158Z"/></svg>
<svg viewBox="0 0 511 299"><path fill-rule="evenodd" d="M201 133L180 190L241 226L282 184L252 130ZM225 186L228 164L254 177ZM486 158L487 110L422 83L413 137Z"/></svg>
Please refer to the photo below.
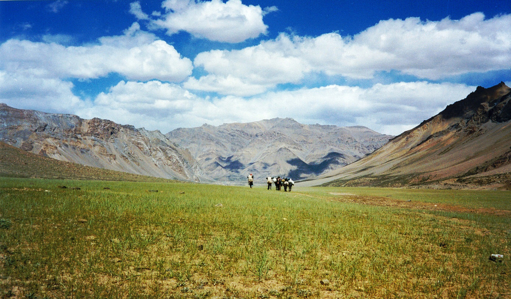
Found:
<svg viewBox="0 0 511 299"><path fill-rule="evenodd" d="M384 20L353 37L328 33L317 37L281 34L274 40L240 50L204 52L194 60L205 78L189 88L222 94L253 86L273 88L300 83L307 73L373 79L380 71L397 70L438 80L470 72L511 68L511 15L485 19L474 13L460 20ZM198 84L205 83L205 84Z"/></svg>

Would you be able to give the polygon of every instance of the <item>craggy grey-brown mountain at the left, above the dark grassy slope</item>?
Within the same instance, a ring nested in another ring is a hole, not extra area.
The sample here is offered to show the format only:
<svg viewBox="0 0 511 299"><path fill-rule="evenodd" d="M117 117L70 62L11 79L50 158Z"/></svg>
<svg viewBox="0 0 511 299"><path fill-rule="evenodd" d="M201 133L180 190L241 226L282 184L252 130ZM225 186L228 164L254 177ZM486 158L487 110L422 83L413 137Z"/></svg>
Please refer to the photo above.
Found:
<svg viewBox="0 0 511 299"><path fill-rule="evenodd" d="M0 141L44 157L138 175L207 181L188 151L158 131L0 104Z"/></svg>

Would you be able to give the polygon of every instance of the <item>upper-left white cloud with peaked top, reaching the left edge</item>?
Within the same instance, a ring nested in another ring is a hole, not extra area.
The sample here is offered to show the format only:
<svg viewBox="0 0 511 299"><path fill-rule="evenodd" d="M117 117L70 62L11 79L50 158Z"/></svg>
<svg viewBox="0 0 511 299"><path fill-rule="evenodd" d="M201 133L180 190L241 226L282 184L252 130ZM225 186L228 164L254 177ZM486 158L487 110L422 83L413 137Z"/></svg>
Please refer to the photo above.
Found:
<svg viewBox="0 0 511 299"><path fill-rule="evenodd" d="M42 78L91 79L117 72L130 80L180 82L190 76L192 62L154 35L133 24L125 35L103 37L100 44L64 46L58 43L10 39L0 45L0 69Z"/></svg>

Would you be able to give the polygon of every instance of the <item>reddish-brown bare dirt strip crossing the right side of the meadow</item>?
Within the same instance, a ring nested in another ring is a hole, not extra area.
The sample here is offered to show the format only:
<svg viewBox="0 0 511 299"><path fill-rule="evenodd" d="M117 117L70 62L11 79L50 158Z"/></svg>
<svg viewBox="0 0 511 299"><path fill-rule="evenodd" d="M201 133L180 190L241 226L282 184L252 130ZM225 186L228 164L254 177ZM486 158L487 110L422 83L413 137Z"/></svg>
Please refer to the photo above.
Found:
<svg viewBox="0 0 511 299"><path fill-rule="evenodd" d="M315 197L309 194L299 193L301 195ZM494 208L467 208L454 205L446 204L435 204L425 202L414 202L414 201L402 201L396 200L390 197L381 196L368 196L368 195L356 195L351 193L330 193L332 196L327 197L328 200L341 203L355 203L361 205L371 205L380 207L395 207L395 208L408 208L408 209L420 209L430 211L445 211L445 212L460 212L460 213L474 213L474 214L485 214L485 215L496 215L496 216L511 216L509 210L497 210ZM324 198L324 197L315 197Z"/></svg>

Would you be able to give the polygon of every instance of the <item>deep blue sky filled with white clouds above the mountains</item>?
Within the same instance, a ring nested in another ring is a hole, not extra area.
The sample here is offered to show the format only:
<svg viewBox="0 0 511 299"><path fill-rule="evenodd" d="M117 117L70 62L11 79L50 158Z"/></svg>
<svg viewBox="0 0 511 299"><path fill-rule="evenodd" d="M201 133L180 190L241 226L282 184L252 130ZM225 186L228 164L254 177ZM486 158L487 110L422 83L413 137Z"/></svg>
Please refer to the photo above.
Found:
<svg viewBox="0 0 511 299"><path fill-rule="evenodd" d="M509 0L0 1L0 103L164 134L291 117L399 135L501 81Z"/></svg>

